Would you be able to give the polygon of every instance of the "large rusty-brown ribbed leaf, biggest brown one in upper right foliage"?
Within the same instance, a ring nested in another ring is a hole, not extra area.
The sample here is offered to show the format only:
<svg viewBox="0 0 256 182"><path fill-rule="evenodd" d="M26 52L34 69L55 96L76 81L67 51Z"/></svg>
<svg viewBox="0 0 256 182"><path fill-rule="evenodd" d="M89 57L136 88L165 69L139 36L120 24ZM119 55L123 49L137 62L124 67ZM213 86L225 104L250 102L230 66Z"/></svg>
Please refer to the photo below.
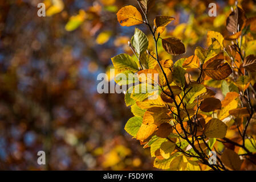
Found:
<svg viewBox="0 0 256 182"><path fill-rule="evenodd" d="M228 63L224 63L224 54L220 53L217 56L209 59L204 65L203 70L209 77L214 80L223 80L232 73Z"/></svg>

